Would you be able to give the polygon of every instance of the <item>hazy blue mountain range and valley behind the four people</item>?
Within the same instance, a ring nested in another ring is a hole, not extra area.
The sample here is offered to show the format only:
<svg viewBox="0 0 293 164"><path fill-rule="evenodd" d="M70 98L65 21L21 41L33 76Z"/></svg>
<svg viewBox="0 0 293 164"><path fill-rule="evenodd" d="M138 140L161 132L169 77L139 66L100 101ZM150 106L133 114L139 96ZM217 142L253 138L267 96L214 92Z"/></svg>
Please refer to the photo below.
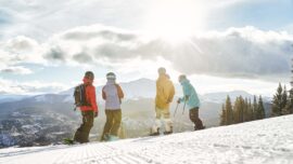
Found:
<svg viewBox="0 0 293 164"><path fill-rule="evenodd" d="M140 137L149 134L154 121L155 81L139 79L120 83L126 98L123 100L123 125L127 132L126 137ZM91 139L97 140L102 133L105 122L103 112L104 101L101 98L103 86L97 86L97 97L100 113L91 131ZM180 85L175 85L177 96L182 95ZM74 87L58 94L42 94L35 96L0 96L0 148L9 146L35 146L58 144L64 137L71 137L78 127L80 113L74 111ZM202 107L200 115L207 127L219 125L221 104L229 95L231 99L237 96L252 98L253 95L244 91L221 92L199 95ZM4 98L3 98L4 97ZM170 106L174 114L176 102ZM269 109L269 104L266 105ZM192 129L188 109L179 106L174 115L174 131L183 132Z"/></svg>

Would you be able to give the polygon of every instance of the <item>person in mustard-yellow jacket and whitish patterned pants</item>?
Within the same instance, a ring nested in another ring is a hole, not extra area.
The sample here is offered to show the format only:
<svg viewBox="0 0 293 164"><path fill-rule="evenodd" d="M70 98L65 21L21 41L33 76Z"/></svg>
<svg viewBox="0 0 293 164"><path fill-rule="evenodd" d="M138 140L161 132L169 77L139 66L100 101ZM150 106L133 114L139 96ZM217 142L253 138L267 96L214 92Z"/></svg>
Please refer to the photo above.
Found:
<svg viewBox="0 0 293 164"><path fill-rule="evenodd" d="M166 73L165 68L158 68L158 79L156 81L155 97L155 123L151 128L151 136L160 135L161 119L165 125L165 135L173 133L173 122L170 119L169 104L173 101L175 88L173 82Z"/></svg>

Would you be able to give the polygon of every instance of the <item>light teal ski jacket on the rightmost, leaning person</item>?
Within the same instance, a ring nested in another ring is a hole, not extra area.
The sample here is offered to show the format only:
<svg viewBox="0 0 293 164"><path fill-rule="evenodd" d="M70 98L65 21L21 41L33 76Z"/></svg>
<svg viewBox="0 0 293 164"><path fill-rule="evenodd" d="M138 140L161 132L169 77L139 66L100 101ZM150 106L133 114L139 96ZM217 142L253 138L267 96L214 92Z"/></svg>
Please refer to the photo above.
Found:
<svg viewBox="0 0 293 164"><path fill-rule="evenodd" d="M194 87L190 84L189 80L182 80L181 82L182 90L183 90L183 97L180 98L180 102L187 101L189 109L195 108L201 106L199 96Z"/></svg>

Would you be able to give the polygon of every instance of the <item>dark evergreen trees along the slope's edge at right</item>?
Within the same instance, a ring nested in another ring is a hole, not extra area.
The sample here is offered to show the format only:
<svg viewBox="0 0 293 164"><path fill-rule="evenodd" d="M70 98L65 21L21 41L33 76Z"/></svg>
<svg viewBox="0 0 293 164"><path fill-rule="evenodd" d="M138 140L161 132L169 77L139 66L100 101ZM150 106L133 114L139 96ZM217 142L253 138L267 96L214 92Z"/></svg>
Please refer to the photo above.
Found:
<svg viewBox="0 0 293 164"><path fill-rule="evenodd" d="M229 95L226 102L222 104L220 114L220 125L231 125L254 120L265 119L268 117L279 117L293 113L293 88L288 91L285 85L279 86L271 101L270 114L266 113L262 96L251 98L237 97L232 104Z"/></svg>

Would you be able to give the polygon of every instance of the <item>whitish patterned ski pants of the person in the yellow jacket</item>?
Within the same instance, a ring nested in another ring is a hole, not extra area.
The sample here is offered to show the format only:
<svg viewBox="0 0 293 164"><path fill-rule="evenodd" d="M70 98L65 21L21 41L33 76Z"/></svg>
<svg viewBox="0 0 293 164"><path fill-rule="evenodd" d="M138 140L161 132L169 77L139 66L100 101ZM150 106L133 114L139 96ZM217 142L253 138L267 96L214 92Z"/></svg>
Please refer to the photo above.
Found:
<svg viewBox="0 0 293 164"><path fill-rule="evenodd" d="M152 127L152 133L157 133L158 128L162 126L161 119L163 118L163 123L165 125L165 132L173 132L173 122L170 119L169 109L155 108L155 123Z"/></svg>

